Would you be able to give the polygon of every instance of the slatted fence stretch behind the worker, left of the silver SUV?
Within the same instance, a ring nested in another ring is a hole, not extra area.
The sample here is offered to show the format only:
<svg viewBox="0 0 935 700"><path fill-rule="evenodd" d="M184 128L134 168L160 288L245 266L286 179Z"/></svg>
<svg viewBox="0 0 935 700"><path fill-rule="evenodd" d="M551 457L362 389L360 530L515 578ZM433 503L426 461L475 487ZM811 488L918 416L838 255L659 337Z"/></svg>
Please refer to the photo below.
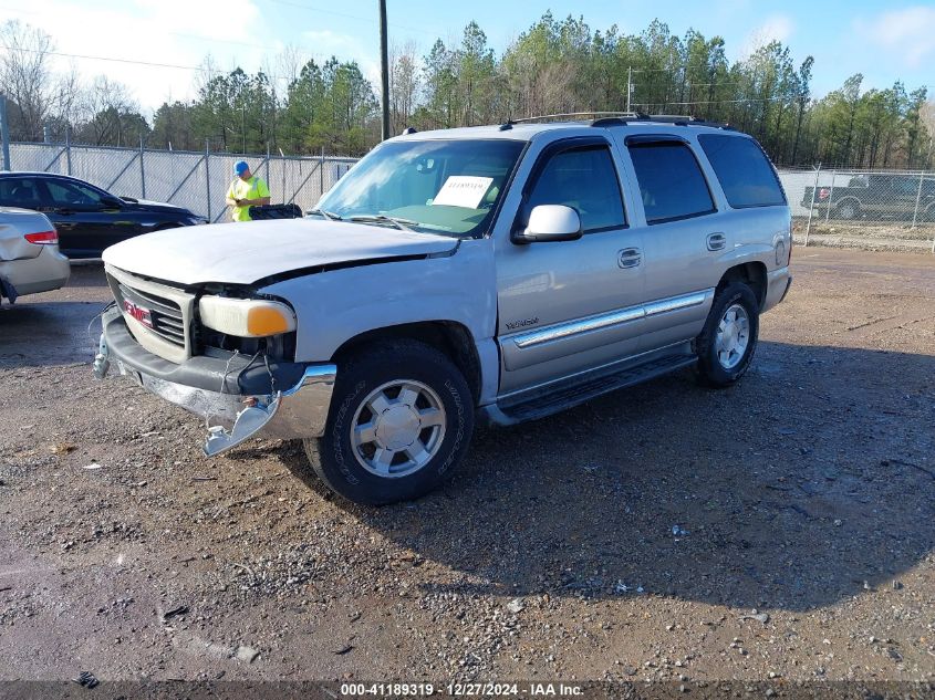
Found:
<svg viewBox="0 0 935 700"><path fill-rule="evenodd" d="M211 222L229 218L225 203L233 165L247 160L267 181L272 203L312 208L356 158L237 155L70 144L10 144L12 170L71 175L118 197L190 209Z"/></svg>

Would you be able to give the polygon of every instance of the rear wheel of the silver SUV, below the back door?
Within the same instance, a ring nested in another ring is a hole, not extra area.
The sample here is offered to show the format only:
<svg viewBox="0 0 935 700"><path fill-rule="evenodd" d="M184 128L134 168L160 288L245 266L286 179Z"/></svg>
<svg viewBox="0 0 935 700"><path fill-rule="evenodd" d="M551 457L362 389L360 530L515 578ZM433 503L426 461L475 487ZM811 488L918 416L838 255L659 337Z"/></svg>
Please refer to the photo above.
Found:
<svg viewBox="0 0 935 700"><path fill-rule="evenodd" d="M752 290L744 282L731 282L715 294L705 327L695 338L700 384L724 388L744 376L757 349L759 309Z"/></svg>

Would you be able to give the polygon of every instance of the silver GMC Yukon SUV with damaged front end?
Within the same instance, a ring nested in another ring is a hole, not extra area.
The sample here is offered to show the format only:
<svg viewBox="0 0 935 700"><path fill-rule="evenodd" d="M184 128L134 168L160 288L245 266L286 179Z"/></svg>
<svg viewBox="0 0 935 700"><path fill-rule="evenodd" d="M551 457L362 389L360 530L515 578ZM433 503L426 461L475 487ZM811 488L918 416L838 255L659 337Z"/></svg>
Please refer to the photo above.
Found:
<svg viewBox="0 0 935 700"><path fill-rule="evenodd" d="M718 124L406 129L304 219L108 248L95 372L205 417L208 455L301 438L347 499L413 499L476 421L683 367L737 382L789 290L790 224L760 146Z"/></svg>

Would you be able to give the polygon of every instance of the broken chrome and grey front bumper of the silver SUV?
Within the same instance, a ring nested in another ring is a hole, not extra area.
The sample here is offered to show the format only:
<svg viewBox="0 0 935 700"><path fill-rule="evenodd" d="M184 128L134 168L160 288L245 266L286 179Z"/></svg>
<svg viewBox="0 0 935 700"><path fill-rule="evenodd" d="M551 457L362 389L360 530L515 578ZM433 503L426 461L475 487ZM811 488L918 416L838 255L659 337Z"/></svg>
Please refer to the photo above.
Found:
<svg viewBox="0 0 935 700"><path fill-rule="evenodd" d="M337 368L332 364L257 363L235 353L191 357L177 365L131 335L120 311L102 314L94 374L111 365L137 384L205 418L209 457L251 437L318 438L324 433Z"/></svg>

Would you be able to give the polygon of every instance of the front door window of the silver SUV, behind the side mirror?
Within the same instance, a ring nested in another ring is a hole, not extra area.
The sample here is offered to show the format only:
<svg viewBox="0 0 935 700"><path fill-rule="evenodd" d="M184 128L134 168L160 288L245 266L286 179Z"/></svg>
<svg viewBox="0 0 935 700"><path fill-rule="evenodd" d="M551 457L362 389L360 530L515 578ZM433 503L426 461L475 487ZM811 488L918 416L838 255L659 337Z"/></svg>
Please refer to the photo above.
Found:
<svg viewBox="0 0 935 700"><path fill-rule="evenodd" d="M595 233L626 226L611 153L605 146L585 146L552 156L527 200L528 211L539 205L565 205L581 217L581 229Z"/></svg>

